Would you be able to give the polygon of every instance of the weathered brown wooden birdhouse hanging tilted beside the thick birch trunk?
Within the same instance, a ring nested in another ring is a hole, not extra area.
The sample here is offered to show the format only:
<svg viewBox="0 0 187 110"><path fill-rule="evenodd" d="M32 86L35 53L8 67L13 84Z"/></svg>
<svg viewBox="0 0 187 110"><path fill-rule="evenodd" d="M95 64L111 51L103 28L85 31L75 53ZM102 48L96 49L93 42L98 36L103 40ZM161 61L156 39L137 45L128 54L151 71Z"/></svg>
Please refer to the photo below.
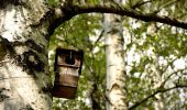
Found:
<svg viewBox="0 0 187 110"><path fill-rule="evenodd" d="M55 56L55 82L52 95L57 98L76 97L79 75L81 74L84 52L57 48Z"/></svg>

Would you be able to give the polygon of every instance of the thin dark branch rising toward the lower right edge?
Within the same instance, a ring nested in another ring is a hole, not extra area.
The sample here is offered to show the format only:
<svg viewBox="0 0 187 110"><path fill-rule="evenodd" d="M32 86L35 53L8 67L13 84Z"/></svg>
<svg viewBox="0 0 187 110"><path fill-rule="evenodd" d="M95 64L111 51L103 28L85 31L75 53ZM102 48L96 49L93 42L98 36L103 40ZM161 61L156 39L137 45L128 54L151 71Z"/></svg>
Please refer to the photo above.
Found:
<svg viewBox="0 0 187 110"><path fill-rule="evenodd" d="M130 107L129 110L133 110L135 109L136 107L139 107L140 105L146 102L148 99L153 98L155 95L160 94L160 92L166 92L166 91L169 91L169 90L173 90L173 89L177 89L177 88L187 88L186 85L176 85L174 87L170 87L170 88L167 88L167 89L157 89L155 92L153 92L152 95L147 96L146 98L142 99L141 101L139 102L135 102L134 106Z"/></svg>

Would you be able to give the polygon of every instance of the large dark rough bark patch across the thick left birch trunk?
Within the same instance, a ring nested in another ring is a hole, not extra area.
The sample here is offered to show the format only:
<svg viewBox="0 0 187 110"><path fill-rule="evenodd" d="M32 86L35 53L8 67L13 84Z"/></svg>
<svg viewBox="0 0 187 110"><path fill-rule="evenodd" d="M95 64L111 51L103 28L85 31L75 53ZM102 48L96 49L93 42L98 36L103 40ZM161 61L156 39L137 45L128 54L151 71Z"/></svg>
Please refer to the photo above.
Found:
<svg viewBox="0 0 187 110"><path fill-rule="evenodd" d="M14 46L28 46L30 47L30 51L22 55L16 55ZM14 63L22 66L23 70L29 70L31 75L33 75L33 72L44 72L44 63L40 59L36 52L44 53L44 50L33 40L28 40L26 42L9 42L7 38L0 36L0 61L9 54L12 58L14 58ZM31 61L31 57L33 57L33 61Z"/></svg>

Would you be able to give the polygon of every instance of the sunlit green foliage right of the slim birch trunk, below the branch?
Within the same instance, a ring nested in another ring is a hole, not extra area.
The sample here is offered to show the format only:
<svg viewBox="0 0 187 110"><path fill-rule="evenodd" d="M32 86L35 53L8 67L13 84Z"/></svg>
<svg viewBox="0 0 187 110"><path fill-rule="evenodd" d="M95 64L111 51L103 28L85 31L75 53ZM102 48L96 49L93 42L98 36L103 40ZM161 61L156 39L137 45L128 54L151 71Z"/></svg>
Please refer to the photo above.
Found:
<svg viewBox="0 0 187 110"><path fill-rule="evenodd" d="M125 24L127 25L127 24ZM130 105L135 105L141 102L150 95L156 92L157 90L169 88L172 85L185 85L183 81L186 80L186 75L184 75L186 68L180 70L175 70L174 61L178 58L185 58L187 55L187 34L186 31L162 25L161 28L153 30L152 34L147 32L148 28L157 26L158 24L142 24L139 29L128 28L131 32L131 42L127 42L127 54L131 53L132 50L134 54L138 54L139 61L127 63L130 67L128 73L128 99ZM146 30L145 30L146 29ZM125 37L125 40L128 40ZM132 56L135 57L135 56ZM127 59L128 61L128 59ZM162 64L165 63L165 64ZM173 73L177 73L177 75ZM175 78L168 77L174 75ZM179 81L183 80L183 81ZM164 82L163 86L154 87L158 82ZM163 94L163 99L166 108L172 108L173 105L178 105L179 95L182 89L174 89ZM145 102L136 108L136 110L153 110L154 102L156 99L154 97L150 98ZM185 105L180 105L177 108L186 108ZM175 107L176 108L176 107ZM176 109L177 109L176 108Z"/></svg>

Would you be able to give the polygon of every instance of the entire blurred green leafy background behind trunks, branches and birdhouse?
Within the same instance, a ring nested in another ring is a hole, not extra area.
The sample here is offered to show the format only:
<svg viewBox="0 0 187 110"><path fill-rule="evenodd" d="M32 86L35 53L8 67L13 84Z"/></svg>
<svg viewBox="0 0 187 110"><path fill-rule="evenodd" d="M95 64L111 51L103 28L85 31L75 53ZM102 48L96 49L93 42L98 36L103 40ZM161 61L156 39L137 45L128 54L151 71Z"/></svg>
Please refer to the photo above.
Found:
<svg viewBox="0 0 187 110"><path fill-rule="evenodd" d="M54 0L50 0L50 2L55 4ZM99 0L88 0L87 2L98 3ZM143 2L143 0L129 0L127 6L131 9L133 6L142 3L134 10L140 13L151 12L168 14L168 16L179 18L180 20L186 19L186 9L182 8L182 4L186 4L185 0L150 0L150 2ZM77 98L75 100L54 99L54 110L91 110L90 105L86 102L88 99L97 100L100 108L106 109L106 54L103 37L98 38L102 30L100 20L101 16L98 14L77 15L57 28L51 37L50 50L62 46L84 50L85 52ZM129 107L140 102L141 105L135 110L154 110L154 102L157 101L155 96L145 101L142 100L157 91L187 82L186 63L185 68L176 68L175 64L175 61L178 59L187 61L187 31L129 18L124 18L123 25L125 30L124 59ZM53 59L54 55L52 54L51 61ZM162 85L158 85L160 82ZM182 95L186 92L186 88L175 88L161 92L165 108L185 110L187 98L182 98Z"/></svg>

